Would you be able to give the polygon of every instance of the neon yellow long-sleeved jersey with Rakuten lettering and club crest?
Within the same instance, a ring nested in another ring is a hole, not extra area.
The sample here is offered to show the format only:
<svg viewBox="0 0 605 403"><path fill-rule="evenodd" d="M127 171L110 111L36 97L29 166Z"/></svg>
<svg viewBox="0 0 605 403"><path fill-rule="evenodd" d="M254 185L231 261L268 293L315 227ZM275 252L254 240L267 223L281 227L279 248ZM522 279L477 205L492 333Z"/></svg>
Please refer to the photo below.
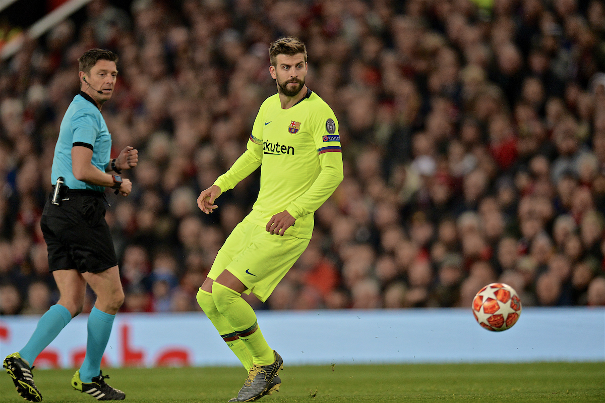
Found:
<svg viewBox="0 0 605 403"><path fill-rule="evenodd" d="M286 234L311 238L313 212L343 177L338 120L330 106L309 90L284 110L275 94L261 105L246 148L214 185L232 189L260 165L261 188L246 219L264 227L287 210L296 222Z"/></svg>

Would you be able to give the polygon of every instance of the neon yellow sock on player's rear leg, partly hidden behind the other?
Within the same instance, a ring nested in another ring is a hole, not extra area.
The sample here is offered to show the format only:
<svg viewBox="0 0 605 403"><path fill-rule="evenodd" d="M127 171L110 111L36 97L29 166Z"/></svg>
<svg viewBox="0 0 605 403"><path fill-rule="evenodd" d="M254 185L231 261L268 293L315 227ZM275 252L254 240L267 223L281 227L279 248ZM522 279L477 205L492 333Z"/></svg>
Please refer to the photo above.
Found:
<svg viewBox="0 0 605 403"><path fill-rule="evenodd" d="M204 313L206 313L206 316L208 316L214 327L217 328L218 333L227 343L229 349L240 360L241 365L244 365L246 371L250 372L250 368L252 368L252 354L248 351L246 344L235 333L229 321L218 312L217 306L215 306L214 300L212 300L212 293L200 288L197 292L197 303L204 310Z"/></svg>

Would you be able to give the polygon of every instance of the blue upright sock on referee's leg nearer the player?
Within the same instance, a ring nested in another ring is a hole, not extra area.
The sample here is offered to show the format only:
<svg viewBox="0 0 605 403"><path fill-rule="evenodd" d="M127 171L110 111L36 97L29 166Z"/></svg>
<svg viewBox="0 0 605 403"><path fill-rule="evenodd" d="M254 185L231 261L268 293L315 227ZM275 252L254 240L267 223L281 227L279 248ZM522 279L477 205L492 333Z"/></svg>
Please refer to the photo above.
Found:
<svg viewBox="0 0 605 403"><path fill-rule="evenodd" d="M110 315L93 307L88 316L88 339L86 341L86 356L82 367L80 367L80 381L90 384L94 376L101 372L101 359L110 339L113 319L116 315Z"/></svg>

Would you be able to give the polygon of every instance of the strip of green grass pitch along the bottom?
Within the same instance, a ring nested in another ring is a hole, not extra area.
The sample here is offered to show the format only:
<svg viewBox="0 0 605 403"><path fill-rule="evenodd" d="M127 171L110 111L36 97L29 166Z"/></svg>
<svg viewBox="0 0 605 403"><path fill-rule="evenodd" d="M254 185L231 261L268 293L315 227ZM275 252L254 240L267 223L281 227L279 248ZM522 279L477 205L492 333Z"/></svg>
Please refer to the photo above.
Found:
<svg viewBox="0 0 605 403"><path fill-rule="evenodd" d="M34 370L43 402L95 402L70 387L73 370ZM239 367L107 369L126 402L226 402ZM0 374L0 402L24 402ZM286 366L260 402L605 402L605 362Z"/></svg>

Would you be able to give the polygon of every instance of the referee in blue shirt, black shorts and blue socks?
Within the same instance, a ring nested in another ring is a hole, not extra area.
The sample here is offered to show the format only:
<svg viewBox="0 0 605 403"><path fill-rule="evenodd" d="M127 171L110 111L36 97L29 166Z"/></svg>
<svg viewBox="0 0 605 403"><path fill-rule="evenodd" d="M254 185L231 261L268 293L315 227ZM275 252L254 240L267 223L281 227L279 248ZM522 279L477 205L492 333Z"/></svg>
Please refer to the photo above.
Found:
<svg viewBox="0 0 605 403"><path fill-rule="evenodd" d="M54 149L51 182L54 191L42 213L41 227L48 247L48 264L59 288L56 305L40 318L36 330L19 352L4 359L17 392L31 402L42 401L31 364L71 318L82 312L86 285L97 295L88 316L86 356L71 379L75 390L98 400L122 400L125 393L105 383L101 358L124 292L116 252L105 221L105 188L127 196L132 183L120 177L139 161L130 146L110 160L111 135L101 114L117 77L117 56L91 49L78 59L80 93L61 122Z"/></svg>

